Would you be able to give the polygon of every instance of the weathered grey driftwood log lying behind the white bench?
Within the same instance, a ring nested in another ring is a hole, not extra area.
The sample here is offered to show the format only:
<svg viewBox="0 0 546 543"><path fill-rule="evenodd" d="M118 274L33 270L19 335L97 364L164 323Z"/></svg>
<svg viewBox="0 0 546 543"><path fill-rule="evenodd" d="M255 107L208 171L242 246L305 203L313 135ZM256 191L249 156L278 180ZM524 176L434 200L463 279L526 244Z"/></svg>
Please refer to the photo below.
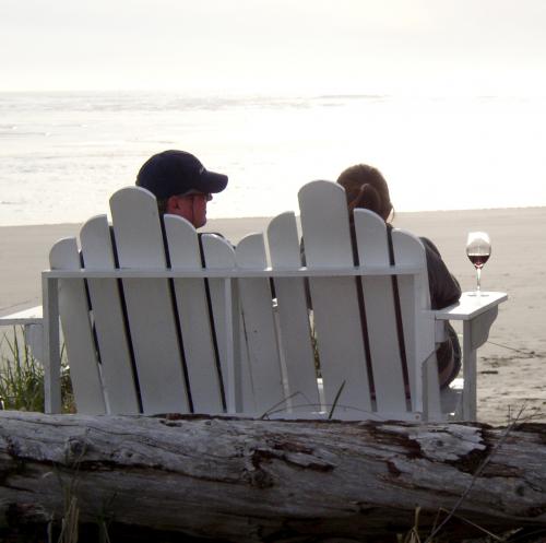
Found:
<svg viewBox="0 0 546 543"><path fill-rule="evenodd" d="M70 493L87 522L235 542L366 541L407 531L417 507L430 529L464 495L459 524L499 533L546 526L545 445L538 424L0 412L0 519L59 518Z"/></svg>

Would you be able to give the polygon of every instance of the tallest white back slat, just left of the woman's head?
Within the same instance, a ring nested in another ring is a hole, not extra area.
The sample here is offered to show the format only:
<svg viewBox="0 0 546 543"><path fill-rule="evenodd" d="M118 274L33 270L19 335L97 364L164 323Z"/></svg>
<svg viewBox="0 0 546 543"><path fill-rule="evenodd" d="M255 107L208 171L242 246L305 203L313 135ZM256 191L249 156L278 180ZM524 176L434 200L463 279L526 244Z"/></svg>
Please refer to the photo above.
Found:
<svg viewBox="0 0 546 543"><path fill-rule="evenodd" d="M302 187L298 196L307 267L352 268L343 188L314 181ZM337 401L334 416L366 417L371 411L371 394L356 280L318 278L310 279L309 286L327 409Z"/></svg>

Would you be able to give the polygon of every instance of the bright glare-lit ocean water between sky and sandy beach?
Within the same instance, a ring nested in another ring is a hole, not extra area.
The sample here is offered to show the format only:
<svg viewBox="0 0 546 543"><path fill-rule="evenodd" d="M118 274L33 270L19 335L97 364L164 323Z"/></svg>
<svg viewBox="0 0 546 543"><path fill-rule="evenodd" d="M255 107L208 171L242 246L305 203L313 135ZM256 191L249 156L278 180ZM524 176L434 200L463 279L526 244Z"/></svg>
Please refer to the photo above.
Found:
<svg viewBox="0 0 546 543"><path fill-rule="evenodd" d="M297 210L368 163L397 211L546 205L546 97L0 94L0 225L82 222L152 154L194 153L229 185L211 217Z"/></svg>

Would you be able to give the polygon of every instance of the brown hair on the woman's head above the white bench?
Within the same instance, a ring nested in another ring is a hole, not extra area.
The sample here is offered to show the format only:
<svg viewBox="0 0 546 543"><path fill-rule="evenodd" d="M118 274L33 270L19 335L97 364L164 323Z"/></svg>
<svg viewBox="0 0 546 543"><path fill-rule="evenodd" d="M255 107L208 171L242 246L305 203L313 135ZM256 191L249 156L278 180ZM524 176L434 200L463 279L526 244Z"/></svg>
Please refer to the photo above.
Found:
<svg viewBox="0 0 546 543"><path fill-rule="evenodd" d="M347 208L352 212L363 208L373 211L387 221L393 210L389 187L379 169L367 164L357 164L342 172L337 178L347 196ZM353 217L353 213L351 213Z"/></svg>

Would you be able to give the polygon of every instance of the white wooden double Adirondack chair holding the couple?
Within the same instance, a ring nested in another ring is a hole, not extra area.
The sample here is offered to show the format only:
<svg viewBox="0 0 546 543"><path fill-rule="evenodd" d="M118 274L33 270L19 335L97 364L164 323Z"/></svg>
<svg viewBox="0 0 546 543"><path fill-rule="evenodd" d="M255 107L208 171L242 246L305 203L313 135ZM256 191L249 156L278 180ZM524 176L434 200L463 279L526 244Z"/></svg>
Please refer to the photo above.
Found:
<svg viewBox="0 0 546 543"><path fill-rule="evenodd" d="M394 229L390 265L384 223L358 210L355 268L343 188L313 181L299 204L307 268L294 213L234 248L217 235L199 238L173 215L162 231L155 198L144 189L116 192L111 228L106 215L91 219L81 249L75 238L58 241L43 275L48 410L60 409L60 315L80 412L475 418L475 351L506 295L431 311L418 238ZM438 386L435 345L447 318L470 322L462 409L442 406Z"/></svg>

